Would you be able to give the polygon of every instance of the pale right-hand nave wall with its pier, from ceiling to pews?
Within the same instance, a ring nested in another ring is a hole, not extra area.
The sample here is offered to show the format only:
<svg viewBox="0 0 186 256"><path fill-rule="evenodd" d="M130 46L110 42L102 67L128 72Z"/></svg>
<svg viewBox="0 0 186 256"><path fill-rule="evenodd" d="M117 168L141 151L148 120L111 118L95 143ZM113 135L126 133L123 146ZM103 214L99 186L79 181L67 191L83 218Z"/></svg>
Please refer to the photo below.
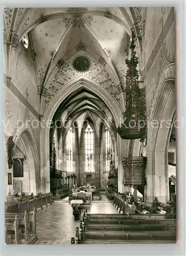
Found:
<svg viewBox="0 0 186 256"><path fill-rule="evenodd" d="M147 190L145 200L169 197L168 148L169 128L162 119L172 120L175 110L175 23L174 8L147 8L145 37L142 41L144 87L147 108ZM172 81L169 83L168 81ZM167 84L165 83L167 82ZM152 121L160 126L153 128Z"/></svg>

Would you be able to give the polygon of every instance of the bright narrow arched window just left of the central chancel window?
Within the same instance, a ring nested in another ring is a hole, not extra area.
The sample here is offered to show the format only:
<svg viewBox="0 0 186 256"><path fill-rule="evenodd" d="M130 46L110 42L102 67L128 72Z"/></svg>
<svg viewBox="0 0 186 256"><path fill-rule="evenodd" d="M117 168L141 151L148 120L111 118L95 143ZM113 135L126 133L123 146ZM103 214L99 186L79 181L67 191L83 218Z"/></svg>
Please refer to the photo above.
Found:
<svg viewBox="0 0 186 256"><path fill-rule="evenodd" d="M66 170L73 172L73 140L72 140L72 127L69 129L66 136Z"/></svg>

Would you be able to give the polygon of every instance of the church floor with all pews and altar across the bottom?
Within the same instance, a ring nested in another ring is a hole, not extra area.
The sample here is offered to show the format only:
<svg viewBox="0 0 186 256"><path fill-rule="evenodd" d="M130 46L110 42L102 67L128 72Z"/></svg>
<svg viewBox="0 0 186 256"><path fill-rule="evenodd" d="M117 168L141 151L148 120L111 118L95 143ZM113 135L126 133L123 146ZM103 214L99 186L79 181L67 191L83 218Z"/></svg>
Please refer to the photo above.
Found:
<svg viewBox="0 0 186 256"><path fill-rule="evenodd" d="M86 191L71 188L68 197L39 194L7 205L6 244L176 242L173 200L164 204L155 198L151 205L135 194Z"/></svg>

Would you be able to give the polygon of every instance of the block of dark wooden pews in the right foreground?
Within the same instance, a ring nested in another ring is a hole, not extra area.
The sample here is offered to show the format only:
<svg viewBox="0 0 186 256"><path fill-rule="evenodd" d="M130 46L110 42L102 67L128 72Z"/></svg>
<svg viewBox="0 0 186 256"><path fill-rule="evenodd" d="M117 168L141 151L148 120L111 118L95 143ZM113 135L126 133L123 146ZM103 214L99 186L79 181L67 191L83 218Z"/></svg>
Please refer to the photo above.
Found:
<svg viewBox="0 0 186 256"><path fill-rule="evenodd" d="M167 219L171 217L171 219ZM176 243L172 215L87 214L76 229L76 244Z"/></svg>

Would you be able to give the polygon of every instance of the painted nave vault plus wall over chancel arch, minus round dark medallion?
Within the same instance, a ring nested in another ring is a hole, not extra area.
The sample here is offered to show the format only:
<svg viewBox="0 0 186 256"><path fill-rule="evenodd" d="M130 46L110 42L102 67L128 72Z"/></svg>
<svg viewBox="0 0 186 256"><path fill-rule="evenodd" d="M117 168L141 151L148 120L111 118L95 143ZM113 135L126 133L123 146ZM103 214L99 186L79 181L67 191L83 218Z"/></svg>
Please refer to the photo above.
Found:
<svg viewBox="0 0 186 256"><path fill-rule="evenodd" d="M16 41L22 44L22 37L29 33L27 50L33 53L41 95L47 89L45 108L59 90L83 78L102 88L121 111L118 87L125 78L131 9L139 20L141 10L128 7L4 9L5 40L14 38L16 48ZM81 74L72 65L78 54L90 59L89 70Z"/></svg>

